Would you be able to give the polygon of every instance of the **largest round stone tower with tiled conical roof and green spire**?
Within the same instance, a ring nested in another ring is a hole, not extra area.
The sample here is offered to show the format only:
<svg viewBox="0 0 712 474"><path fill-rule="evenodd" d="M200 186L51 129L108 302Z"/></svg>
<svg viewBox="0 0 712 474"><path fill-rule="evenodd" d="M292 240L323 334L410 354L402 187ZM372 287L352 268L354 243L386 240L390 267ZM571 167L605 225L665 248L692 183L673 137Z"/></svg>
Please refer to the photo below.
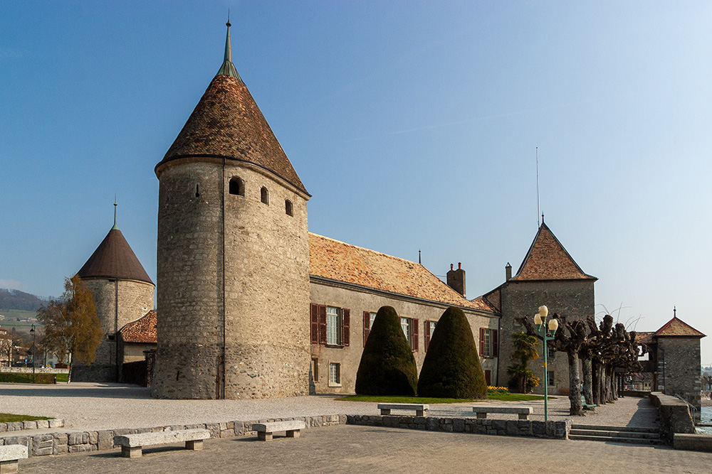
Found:
<svg viewBox="0 0 712 474"><path fill-rule="evenodd" d="M310 195L231 61L163 160L153 394L308 393Z"/></svg>

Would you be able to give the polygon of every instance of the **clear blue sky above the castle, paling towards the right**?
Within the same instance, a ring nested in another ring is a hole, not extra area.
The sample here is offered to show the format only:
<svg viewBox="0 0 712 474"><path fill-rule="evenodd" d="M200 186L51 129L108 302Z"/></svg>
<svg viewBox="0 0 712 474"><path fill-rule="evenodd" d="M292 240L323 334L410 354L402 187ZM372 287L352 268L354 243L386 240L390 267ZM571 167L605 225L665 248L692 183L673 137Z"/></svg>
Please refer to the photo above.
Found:
<svg viewBox="0 0 712 474"><path fill-rule="evenodd" d="M474 298L535 235L538 147L541 209L599 278L597 311L656 330L677 306L712 337L704 1L0 1L0 287L60 294L114 195L155 279L153 168L221 65L228 9L312 232L462 262Z"/></svg>

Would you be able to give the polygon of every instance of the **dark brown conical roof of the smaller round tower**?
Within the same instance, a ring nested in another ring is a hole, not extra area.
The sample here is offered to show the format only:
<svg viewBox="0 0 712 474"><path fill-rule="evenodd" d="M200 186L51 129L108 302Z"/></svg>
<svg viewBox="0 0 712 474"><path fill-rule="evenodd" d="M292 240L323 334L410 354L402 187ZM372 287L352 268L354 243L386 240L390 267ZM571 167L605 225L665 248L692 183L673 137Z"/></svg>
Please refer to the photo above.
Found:
<svg viewBox="0 0 712 474"><path fill-rule="evenodd" d="M153 284L117 227L112 227L77 274L81 278L120 278Z"/></svg>

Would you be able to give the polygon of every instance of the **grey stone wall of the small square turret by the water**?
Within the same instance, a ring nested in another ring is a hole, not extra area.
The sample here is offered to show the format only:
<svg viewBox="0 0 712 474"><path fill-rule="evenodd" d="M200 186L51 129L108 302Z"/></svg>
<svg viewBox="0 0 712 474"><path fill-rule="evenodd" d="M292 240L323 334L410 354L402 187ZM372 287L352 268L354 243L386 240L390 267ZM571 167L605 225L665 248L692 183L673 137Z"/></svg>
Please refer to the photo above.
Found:
<svg viewBox="0 0 712 474"><path fill-rule="evenodd" d="M664 394L680 395L695 407L695 421L700 421L702 383L700 374L700 339L679 336L659 337L658 387Z"/></svg>

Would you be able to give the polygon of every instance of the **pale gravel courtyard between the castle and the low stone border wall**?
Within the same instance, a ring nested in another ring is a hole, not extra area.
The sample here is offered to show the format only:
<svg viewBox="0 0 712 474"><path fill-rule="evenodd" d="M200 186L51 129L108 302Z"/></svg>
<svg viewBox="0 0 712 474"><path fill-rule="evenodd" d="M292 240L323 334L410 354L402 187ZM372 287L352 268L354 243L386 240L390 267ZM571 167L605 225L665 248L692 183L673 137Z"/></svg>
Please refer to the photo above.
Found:
<svg viewBox="0 0 712 474"><path fill-rule="evenodd" d="M66 429L100 430L147 428L173 424L218 423L290 416L328 414L378 414L376 403L340 402L333 395L264 400L163 400L153 399L150 389L135 385L72 382L29 386L0 384L0 412L51 416L66 421ZM543 420L544 402L483 402L531 406L530 419ZM429 416L474 416L472 403L431 404ZM549 401L549 419L565 419L566 397ZM657 410L649 399L624 398L600 406L595 413L575 417L574 423L612 426L657 426ZM496 415L516 419L516 415ZM56 431L56 430L55 430Z"/></svg>

